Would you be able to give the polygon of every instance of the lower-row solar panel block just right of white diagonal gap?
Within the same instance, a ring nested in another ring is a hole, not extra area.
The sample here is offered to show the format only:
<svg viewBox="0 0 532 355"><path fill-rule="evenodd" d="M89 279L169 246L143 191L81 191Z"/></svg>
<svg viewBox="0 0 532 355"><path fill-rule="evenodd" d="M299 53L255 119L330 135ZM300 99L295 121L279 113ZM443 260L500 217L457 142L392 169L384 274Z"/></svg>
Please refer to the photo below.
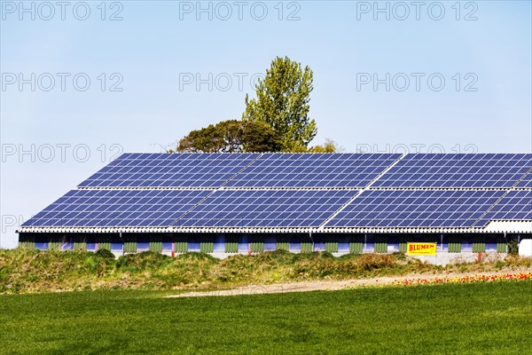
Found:
<svg viewBox="0 0 532 355"><path fill-rule="evenodd" d="M326 227L468 227L505 192L498 190L369 190Z"/></svg>

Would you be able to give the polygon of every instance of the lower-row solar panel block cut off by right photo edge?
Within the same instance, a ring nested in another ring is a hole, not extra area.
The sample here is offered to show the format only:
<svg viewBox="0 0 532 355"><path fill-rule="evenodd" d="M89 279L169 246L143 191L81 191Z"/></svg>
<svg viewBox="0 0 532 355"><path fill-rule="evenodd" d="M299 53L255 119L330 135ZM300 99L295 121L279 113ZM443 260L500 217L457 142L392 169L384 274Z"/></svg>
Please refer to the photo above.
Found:
<svg viewBox="0 0 532 355"><path fill-rule="evenodd" d="M532 221L532 190L513 190L508 192L482 217L476 226L487 225L490 220L528 220Z"/></svg>

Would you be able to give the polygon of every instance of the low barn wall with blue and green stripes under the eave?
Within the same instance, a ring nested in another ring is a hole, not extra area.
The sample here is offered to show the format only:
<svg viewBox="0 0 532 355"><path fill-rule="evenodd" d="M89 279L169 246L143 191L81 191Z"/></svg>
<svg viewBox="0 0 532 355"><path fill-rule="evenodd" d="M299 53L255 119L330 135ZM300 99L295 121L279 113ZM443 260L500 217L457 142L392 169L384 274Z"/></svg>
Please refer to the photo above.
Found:
<svg viewBox="0 0 532 355"><path fill-rule="evenodd" d="M438 253L505 253L508 241L532 239L532 234L475 233L20 233L20 248L89 250L107 248L116 255L146 250L250 254L285 249L293 253L329 251L394 253L406 251L406 242L436 242Z"/></svg>

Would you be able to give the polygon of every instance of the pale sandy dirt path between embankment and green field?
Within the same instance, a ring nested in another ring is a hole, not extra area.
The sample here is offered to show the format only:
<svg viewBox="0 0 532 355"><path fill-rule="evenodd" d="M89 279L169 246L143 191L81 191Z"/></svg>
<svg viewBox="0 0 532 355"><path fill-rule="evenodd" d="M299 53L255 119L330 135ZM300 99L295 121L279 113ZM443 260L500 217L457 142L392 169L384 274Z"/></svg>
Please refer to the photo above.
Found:
<svg viewBox="0 0 532 355"><path fill-rule="evenodd" d="M178 295L166 296L167 298L176 297L201 297L201 296L240 296L240 295L262 295L262 294L282 294L287 292L308 292L308 291L334 291L343 288L361 288L390 286L396 281L404 280L434 280L437 278L453 278L473 275L504 275L506 273L518 273L516 271L505 272L465 272L465 273L442 273L442 274L419 274L413 273L405 276L377 277L372 279L353 279L353 280L317 280L278 283L272 285L250 285L240 288L216 290L216 291L192 291Z"/></svg>

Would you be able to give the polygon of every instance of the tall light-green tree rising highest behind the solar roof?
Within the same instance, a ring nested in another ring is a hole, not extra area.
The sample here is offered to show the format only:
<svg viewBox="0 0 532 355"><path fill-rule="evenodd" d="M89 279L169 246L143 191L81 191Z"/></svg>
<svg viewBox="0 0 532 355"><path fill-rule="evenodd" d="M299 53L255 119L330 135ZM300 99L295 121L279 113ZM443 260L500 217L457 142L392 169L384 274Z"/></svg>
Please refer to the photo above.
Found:
<svg viewBox="0 0 532 355"><path fill-rule="evenodd" d="M266 77L255 85L256 99L246 95L244 121L263 122L278 133L281 151L306 151L316 136L316 122L309 118L312 70L288 57L276 58Z"/></svg>

